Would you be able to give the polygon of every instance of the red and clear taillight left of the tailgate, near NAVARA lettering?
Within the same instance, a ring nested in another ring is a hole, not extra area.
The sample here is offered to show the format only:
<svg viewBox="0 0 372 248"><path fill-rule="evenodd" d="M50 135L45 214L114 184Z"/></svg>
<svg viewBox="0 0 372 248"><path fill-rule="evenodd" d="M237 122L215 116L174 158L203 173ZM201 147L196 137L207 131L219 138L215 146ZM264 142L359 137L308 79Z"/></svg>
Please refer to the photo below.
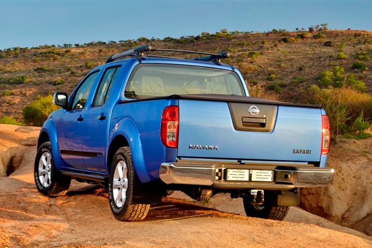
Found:
<svg viewBox="0 0 372 248"><path fill-rule="evenodd" d="M168 106L161 117L160 138L163 145L169 148L178 146L178 106Z"/></svg>

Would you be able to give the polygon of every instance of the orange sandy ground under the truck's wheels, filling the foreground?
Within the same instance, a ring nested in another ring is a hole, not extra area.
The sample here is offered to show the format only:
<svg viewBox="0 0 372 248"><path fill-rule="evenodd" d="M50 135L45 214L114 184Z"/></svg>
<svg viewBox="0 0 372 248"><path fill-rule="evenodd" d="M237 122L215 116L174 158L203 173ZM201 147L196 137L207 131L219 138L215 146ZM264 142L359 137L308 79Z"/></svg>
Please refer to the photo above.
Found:
<svg viewBox="0 0 372 248"><path fill-rule="evenodd" d="M1 137L0 137L1 144ZM175 192L139 222L119 222L104 189L73 181L48 198L33 181L35 146L0 178L0 247L372 247L372 237L291 207L284 221L248 218L227 194L203 206Z"/></svg>

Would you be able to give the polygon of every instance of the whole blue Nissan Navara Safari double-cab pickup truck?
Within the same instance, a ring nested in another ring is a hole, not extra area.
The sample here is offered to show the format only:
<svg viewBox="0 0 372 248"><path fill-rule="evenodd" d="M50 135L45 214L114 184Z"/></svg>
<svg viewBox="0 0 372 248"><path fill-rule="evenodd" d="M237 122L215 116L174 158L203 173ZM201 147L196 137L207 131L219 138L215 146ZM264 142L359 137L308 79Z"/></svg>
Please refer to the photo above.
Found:
<svg viewBox="0 0 372 248"><path fill-rule="evenodd" d="M200 201L230 193L247 216L282 220L301 187L333 179L329 120L321 106L250 97L221 63L228 56L140 46L110 56L69 97L55 93L61 109L38 139L39 192L61 196L71 179L100 184L122 221L144 219L170 191Z"/></svg>

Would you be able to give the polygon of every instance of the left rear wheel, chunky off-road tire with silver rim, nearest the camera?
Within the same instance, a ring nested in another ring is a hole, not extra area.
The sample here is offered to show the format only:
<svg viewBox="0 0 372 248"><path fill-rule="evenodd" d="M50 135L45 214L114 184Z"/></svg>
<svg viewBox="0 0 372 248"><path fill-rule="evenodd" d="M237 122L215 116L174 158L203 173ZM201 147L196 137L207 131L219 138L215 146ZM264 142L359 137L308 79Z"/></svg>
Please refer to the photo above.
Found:
<svg viewBox="0 0 372 248"><path fill-rule="evenodd" d="M131 150L128 146L119 148L114 155L109 177L109 203L116 219L135 221L146 217L150 204L133 204L134 187L138 184Z"/></svg>

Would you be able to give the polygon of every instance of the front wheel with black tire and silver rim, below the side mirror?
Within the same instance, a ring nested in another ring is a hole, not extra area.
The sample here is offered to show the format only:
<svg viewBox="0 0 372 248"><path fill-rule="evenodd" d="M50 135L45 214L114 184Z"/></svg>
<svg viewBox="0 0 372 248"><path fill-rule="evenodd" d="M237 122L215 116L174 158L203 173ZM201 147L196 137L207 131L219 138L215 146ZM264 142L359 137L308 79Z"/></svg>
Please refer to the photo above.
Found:
<svg viewBox="0 0 372 248"><path fill-rule="evenodd" d="M55 168L50 142L45 142L39 147L33 172L35 185L40 193L49 197L63 196L67 193L71 177L62 175Z"/></svg>

